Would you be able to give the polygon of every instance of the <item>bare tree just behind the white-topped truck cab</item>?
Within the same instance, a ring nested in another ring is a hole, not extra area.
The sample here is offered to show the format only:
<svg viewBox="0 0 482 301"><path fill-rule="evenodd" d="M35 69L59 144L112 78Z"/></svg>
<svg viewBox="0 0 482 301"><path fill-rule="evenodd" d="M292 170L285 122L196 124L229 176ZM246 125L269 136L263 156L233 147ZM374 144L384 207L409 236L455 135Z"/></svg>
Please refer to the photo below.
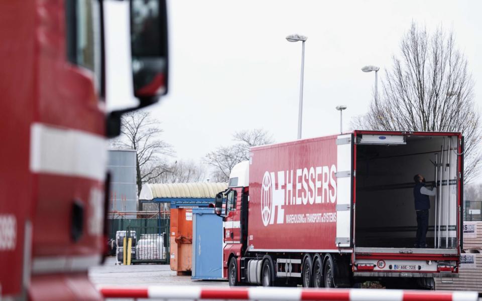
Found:
<svg viewBox="0 0 482 301"><path fill-rule="evenodd" d="M206 155L205 163L213 169L211 179L227 182L234 165L250 160L250 147L273 143L273 136L264 129L242 130L235 132L229 146L219 146Z"/></svg>

